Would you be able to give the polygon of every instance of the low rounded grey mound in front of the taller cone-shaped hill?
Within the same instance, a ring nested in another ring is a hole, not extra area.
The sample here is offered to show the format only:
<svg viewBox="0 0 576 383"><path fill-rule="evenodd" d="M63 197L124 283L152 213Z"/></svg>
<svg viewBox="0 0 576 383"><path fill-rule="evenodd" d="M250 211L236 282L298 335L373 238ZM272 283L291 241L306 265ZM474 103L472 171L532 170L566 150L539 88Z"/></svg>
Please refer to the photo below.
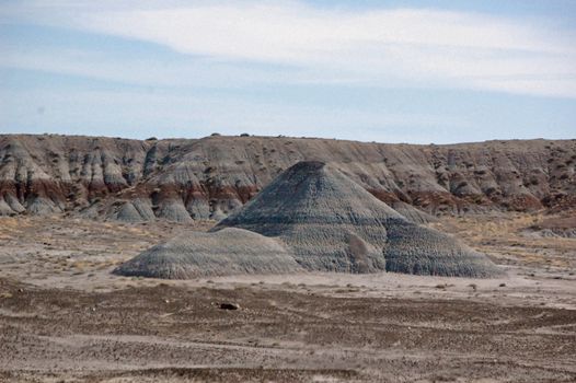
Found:
<svg viewBox="0 0 576 383"><path fill-rule="evenodd" d="M163 279L302 271L278 241L242 229L189 232L151 247L113 272Z"/></svg>

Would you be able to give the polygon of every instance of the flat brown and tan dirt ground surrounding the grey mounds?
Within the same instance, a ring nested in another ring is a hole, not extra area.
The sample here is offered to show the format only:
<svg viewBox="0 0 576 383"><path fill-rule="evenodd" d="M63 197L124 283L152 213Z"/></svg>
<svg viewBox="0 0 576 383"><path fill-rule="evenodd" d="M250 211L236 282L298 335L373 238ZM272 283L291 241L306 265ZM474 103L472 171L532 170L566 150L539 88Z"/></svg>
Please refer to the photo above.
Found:
<svg viewBox="0 0 576 383"><path fill-rule="evenodd" d="M575 382L576 240L527 234L541 219L435 223L499 279L163 281L110 271L210 223L0 218L0 381Z"/></svg>

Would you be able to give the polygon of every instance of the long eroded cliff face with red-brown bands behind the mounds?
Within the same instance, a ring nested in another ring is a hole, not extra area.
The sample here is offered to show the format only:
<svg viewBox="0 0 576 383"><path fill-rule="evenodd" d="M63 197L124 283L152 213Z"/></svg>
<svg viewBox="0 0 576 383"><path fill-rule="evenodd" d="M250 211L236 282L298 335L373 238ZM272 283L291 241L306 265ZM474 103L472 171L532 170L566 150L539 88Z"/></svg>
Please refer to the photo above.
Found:
<svg viewBox="0 0 576 383"><path fill-rule="evenodd" d="M0 136L0 214L221 219L298 161L433 214L576 207L576 140L451 146L208 137Z"/></svg>

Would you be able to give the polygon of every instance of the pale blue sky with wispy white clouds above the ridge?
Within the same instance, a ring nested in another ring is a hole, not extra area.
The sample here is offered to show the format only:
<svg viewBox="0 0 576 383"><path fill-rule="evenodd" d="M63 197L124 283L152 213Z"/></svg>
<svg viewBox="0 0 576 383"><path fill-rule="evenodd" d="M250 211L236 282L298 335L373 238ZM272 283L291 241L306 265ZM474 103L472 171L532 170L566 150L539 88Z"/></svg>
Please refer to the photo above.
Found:
<svg viewBox="0 0 576 383"><path fill-rule="evenodd" d="M0 0L0 134L576 138L576 0Z"/></svg>

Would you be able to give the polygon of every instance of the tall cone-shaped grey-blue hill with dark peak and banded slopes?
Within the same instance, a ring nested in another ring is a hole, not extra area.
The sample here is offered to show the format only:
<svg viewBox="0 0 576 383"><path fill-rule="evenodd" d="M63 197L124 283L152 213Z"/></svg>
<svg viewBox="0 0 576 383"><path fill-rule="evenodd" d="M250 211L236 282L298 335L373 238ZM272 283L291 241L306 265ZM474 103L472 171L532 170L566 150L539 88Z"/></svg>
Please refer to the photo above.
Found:
<svg viewBox="0 0 576 383"><path fill-rule="evenodd" d="M410 222L337 169L318 161L288 169L211 231L223 228L279 237L308 270L499 274L483 254Z"/></svg>

